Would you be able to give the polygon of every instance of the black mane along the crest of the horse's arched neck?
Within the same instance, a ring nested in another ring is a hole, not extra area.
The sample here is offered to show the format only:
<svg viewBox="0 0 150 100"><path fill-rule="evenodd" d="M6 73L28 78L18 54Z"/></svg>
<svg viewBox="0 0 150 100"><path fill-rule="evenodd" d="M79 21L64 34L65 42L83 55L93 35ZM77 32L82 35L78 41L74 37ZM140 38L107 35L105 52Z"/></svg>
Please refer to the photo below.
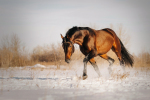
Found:
<svg viewBox="0 0 150 100"><path fill-rule="evenodd" d="M80 31L80 30L88 30L90 33L94 33L93 29L89 28L89 27L77 27L74 26L72 28L70 28L67 33L65 38L67 39L67 36L72 37L72 35L76 32L76 31Z"/></svg>

